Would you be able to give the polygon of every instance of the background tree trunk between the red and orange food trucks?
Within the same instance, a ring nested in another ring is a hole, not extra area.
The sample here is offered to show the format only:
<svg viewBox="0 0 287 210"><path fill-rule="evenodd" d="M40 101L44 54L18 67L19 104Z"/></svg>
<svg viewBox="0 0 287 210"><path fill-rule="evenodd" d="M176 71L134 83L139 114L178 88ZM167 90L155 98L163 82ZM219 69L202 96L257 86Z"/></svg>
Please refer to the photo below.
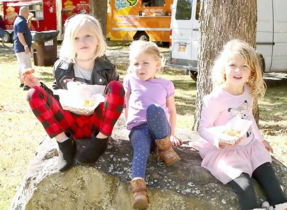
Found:
<svg viewBox="0 0 287 210"><path fill-rule="evenodd" d="M90 7L92 15L100 21L103 35L106 37L108 0L90 0Z"/></svg>

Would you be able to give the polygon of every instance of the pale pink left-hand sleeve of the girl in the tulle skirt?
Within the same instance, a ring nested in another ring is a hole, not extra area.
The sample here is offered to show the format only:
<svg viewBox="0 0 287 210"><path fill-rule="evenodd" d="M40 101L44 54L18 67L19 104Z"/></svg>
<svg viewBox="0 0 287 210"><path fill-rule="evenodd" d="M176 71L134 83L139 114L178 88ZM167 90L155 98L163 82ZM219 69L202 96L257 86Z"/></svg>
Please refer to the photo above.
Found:
<svg viewBox="0 0 287 210"><path fill-rule="evenodd" d="M217 105L217 98L211 98L207 95L203 98L203 106L201 111L201 120L199 123L198 133L201 138L209 141L212 145L219 148L219 140L207 130L207 128L213 127L214 122L220 114L220 106Z"/></svg>

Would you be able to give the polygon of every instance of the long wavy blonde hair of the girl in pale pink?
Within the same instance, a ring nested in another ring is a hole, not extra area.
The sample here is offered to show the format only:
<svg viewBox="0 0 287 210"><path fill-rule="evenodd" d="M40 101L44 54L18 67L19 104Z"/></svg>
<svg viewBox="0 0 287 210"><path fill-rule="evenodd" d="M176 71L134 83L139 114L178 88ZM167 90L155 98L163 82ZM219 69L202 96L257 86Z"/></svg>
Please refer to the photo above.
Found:
<svg viewBox="0 0 287 210"><path fill-rule="evenodd" d="M259 57L255 50L245 41L234 39L224 46L223 51L219 54L211 69L213 88L225 83L225 67L230 56L234 54L241 56L251 70L248 85L250 87L250 94L254 100L254 107L257 105L258 95L260 94L261 98L264 97L266 84L263 81Z"/></svg>

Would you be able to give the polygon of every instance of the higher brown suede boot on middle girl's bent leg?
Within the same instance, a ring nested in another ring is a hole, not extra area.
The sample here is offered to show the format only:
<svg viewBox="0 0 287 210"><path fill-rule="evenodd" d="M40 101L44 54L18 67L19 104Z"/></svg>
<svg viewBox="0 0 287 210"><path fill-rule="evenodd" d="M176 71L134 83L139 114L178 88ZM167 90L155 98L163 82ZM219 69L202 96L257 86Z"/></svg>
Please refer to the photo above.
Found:
<svg viewBox="0 0 287 210"><path fill-rule="evenodd" d="M172 142L169 136L161 140L155 140L155 142L157 145L157 153L158 153L157 161L163 159L163 161L167 166L170 166L173 163L180 161L180 157L176 154L176 152L172 148Z"/></svg>

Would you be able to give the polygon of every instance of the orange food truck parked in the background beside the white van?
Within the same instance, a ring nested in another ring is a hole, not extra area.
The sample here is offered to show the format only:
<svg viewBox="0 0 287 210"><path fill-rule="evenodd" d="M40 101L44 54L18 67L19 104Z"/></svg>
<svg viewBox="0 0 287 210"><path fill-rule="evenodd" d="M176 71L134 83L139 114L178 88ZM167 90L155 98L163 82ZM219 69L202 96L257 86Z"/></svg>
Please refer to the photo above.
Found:
<svg viewBox="0 0 287 210"><path fill-rule="evenodd" d="M169 44L173 0L109 0L107 38Z"/></svg>

